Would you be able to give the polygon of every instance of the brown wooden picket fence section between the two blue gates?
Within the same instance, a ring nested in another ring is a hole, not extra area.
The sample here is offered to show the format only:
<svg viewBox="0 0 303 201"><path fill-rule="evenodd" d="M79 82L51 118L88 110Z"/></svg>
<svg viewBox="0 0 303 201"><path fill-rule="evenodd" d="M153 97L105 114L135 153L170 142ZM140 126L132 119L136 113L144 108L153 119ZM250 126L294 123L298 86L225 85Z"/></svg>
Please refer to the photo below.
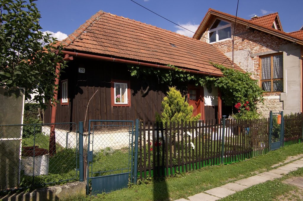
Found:
<svg viewBox="0 0 303 201"><path fill-rule="evenodd" d="M165 124L142 121L140 125L140 179L233 163L269 151L268 118L227 119L224 133L222 120Z"/></svg>

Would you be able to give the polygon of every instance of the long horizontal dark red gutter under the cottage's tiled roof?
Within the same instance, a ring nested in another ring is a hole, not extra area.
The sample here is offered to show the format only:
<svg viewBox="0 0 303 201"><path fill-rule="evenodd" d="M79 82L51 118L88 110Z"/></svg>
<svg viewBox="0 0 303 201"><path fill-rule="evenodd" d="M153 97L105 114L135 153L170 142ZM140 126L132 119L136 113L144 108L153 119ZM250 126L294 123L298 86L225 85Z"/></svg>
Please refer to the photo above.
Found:
<svg viewBox="0 0 303 201"><path fill-rule="evenodd" d="M133 64L133 65L138 65L138 66L141 65L141 66L148 66L148 67L153 67L153 68L163 68L163 69L171 70L171 68L169 66L163 66L163 65L158 65L158 64L150 64L150 63L145 63L145 62L130 61L130 60L125 60L125 59L104 57L104 56L98 56L98 55L92 55L92 54L70 52L70 51L65 51L65 50L62 50L61 52L64 54L69 54L69 55L76 56L76 57L92 58L92 59L99 59L99 60L103 60L103 61L113 61L113 62L120 62L120 63L126 63L126 64ZM194 73L194 74L223 77L223 75L220 75L220 74L206 73L206 72L195 71L195 70L190 70L190 69L185 69L185 68L178 68L178 69L181 69L182 71Z"/></svg>

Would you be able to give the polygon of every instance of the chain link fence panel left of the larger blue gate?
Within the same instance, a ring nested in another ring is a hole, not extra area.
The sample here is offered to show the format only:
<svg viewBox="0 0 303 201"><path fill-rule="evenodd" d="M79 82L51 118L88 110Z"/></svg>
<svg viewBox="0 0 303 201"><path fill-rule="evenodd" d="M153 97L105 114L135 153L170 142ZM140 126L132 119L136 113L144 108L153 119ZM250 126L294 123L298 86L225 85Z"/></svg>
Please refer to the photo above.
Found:
<svg viewBox="0 0 303 201"><path fill-rule="evenodd" d="M0 125L0 193L78 180L77 131L75 123Z"/></svg>

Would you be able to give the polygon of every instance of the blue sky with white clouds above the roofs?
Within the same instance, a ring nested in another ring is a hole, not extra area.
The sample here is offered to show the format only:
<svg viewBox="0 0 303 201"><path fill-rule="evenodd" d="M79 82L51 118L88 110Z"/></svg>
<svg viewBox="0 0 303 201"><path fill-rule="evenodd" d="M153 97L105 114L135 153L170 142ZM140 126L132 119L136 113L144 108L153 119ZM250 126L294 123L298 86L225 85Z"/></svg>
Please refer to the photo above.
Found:
<svg viewBox="0 0 303 201"><path fill-rule="evenodd" d="M203 0L135 0L139 4L182 25L191 31L196 30L208 8L213 8L231 15L236 14L237 0L203 1ZM99 10L118 16L134 19L163 29L184 35L181 28L149 12L130 0L38 0L37 6L42 18L40 25L43 31L71 34ZM303 0L240 0L238 16L249 19L253 15L267 15L278 12L284 31L297 31L303 25ZM61 33L63 34L61 34Z"/></svg>

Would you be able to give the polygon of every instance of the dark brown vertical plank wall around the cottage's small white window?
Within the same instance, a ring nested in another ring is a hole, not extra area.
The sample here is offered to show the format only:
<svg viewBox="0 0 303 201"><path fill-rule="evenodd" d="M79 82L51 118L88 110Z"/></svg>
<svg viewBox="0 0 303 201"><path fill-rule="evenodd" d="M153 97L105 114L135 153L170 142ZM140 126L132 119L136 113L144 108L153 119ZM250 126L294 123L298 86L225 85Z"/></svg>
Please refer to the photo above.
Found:
<svg viewBox="0 0 303 201"><path fill-rule="evenodd" d="M85 62L86 61L86 62ZM84 121L88 100L90 101L87 120L135 120L154 121L155 113L161 111L161 101L168 86L158 83L157 77L148 77L149 91L142 97L144 80L130 76L126 64L115 62L79 60L69 62L69 67L60 79L68 79L69 104L57 106L56 122ZM85 74L78 73L78 68L85 68ZM111 79L130 81L131 106L112 107ZM58 91L58 99L61 91ZM50 123L51 107L45 111L45 123Z"/></svg>

